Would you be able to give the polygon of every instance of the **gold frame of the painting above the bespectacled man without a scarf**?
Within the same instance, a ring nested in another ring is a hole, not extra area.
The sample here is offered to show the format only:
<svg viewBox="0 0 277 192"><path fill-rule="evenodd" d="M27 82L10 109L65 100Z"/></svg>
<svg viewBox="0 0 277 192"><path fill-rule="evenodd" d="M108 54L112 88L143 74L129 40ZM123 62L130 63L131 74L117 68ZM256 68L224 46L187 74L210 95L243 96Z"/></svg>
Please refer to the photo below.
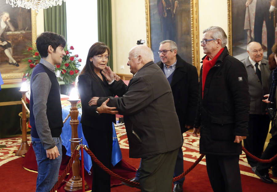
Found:
<svg viewBox="0 0 277 192"><path fill-rule="evenodd" d="M150 26L150 8L149 1L145 0L146 9L146 33L147 46L151 46L151 26ZM200 55L199 55L199 16L198 16L198 0L190 0L190 25L191 25L191 60L192 64L200 71ZM180 47L180 46L179 46ZM156 50L153 50L156 51Z"/></svg>

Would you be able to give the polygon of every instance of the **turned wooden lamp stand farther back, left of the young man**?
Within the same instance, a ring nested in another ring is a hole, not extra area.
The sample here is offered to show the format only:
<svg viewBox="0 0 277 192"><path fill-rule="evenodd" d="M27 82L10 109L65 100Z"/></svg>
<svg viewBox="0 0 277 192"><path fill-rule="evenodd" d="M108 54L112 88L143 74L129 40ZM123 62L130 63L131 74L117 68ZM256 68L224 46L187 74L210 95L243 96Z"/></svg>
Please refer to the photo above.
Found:
<svg viewBox="0 0 277 192"><path fill-rule="evenodd" d="M19 90L20 91L20 90ZM22 98L24 102L26 103L26 92L27 91L20 91L22 93ZM25 153L27 153L29 149L29 145L27 143L27 129L26 129L26 108L24 104L22 103L22 141L21 145L16 151L15 155L17 156L23 156Z"/></svg>

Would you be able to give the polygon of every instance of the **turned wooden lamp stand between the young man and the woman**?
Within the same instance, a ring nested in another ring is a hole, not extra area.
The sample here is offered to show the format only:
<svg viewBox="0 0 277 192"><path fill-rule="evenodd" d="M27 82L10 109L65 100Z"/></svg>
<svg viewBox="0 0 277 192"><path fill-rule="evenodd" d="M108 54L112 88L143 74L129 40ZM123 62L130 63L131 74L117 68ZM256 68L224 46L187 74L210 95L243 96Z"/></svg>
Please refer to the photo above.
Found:
<svg viewBox="0 0 277 192"><path fill-rule="evenodd" d="M70 108L70 125L71 125L71 138L78 138L78 125L79 125L79 120L78 120L78 115L79 111L77 108L77 102L78 100L68 100L71 103L71 108ZM71 149L71 154L73 153L74 149L78 145L77 142L71 142L70 149ZM66 185L64 187L64 190L66 191L77 191L82 189L82 178L80 177L80 153L78 151L73 164L72 164L72 177L69 179L68 182L66 182ZM83 178L84 179L84 178ZM88 188L88 185L85 181L85 189Z"/></svg>

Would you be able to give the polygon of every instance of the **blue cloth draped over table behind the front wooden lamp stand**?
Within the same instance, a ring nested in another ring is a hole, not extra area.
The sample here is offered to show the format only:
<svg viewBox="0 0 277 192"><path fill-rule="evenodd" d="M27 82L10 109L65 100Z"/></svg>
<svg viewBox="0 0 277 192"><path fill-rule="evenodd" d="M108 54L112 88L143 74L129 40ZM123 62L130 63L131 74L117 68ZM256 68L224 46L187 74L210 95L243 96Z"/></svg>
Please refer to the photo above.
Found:
<svg viewBox="0 0 277 192"><path fill-rule="evenodd" d="M66 118L66 116L69 114L70 111L70 102L66 101L66 100L62 100L62 119L64 120ZM82 114L82 109L78 108L79 111L79 115L78 115L78 120L81 120L81 115ZM68 118L68 120L64 123L63 128L62 128L62 134L61 134L61 138L62 138L62 145L65 146L66 148L66 155L71 156L71 149L70 149L70 139L71 139L71 125L69 124L70 121L70 117ZM113 123L112 123L113 124ZM86 138L83 134L82 131L82 124L79 123L78 125L78 137L79 138L83 138L83 145L87 145L87 141ZM90 146L88 146L89 148ZM121 154L121 150L119 147L119 143L117 140L117 136L115 133L115 129L114 129L114 124L113 124L113 149L112 149L112 160L111 160L111 164L114 166L116 165L120 160L122 159L122 154ZM81 160L81 156L80 156L80 160ZM89 154L87 154L86 152L84 153L84 164L85 164L85 170L90 173L90 169L92 167L92 162L91 162L91 158L89 156Z"/></svg>

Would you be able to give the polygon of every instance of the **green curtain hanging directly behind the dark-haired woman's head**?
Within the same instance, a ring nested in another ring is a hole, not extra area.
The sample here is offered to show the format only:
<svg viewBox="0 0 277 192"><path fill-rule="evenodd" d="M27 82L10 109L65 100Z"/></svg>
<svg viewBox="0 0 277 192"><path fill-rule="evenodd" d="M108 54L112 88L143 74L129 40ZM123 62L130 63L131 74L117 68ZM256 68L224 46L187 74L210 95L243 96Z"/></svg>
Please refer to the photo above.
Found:
<svg viewBox="0 0 277 192"><path fill-rule="evenodd" d="M113 70L113 38L111 0L97 0L98 41L110 47L108 66Z"/></svg>

